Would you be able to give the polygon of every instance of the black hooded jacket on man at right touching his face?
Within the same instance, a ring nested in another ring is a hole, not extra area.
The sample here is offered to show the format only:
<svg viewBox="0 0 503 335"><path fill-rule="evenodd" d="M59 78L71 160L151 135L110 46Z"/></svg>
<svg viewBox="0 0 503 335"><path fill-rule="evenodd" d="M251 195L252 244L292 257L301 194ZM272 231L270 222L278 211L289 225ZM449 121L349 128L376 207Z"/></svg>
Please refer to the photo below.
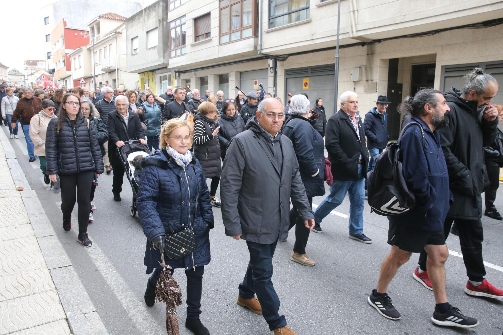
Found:
<svg viewBox="0 0 503 335"><path fill-rule="evenodd" d="M477 107L477 101L461 98L455 88L444 94L449 126L439 129L454 203L447 214L450 218L477 220L482 215L484 191L483 147L494 142L497 118L486 121Z"/></svg>

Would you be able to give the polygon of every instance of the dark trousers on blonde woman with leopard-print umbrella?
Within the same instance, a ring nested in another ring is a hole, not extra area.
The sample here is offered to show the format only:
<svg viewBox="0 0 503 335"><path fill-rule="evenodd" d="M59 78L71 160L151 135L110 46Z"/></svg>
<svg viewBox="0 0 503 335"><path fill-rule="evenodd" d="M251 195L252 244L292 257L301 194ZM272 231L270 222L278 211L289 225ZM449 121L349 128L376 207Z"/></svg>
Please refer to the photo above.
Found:
<svg viewBox="0 0 503 335"><path fill-rule="evenodd" d="M155 287L157 280L159 279L161 269L154 269L152 275L150 276L150 285ZM171 270L171 274L175 269ZM203 295L203 274L204 267L197 267L196 271L190 270L185 271L185 276L187 276L187 318L188 319L198 319L201 314L201 297Z"/></svg>

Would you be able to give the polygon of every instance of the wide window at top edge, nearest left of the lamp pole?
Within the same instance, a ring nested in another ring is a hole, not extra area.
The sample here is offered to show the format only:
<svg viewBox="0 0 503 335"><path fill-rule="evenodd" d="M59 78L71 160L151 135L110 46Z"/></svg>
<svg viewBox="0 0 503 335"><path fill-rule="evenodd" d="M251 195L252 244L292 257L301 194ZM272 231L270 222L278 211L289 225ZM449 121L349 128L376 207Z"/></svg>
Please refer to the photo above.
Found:
<svg viewBox="0 0 503 335"><path fill-rule="evenodd" d="M271 0L269 28L309 19L309 0Z"/></svg>

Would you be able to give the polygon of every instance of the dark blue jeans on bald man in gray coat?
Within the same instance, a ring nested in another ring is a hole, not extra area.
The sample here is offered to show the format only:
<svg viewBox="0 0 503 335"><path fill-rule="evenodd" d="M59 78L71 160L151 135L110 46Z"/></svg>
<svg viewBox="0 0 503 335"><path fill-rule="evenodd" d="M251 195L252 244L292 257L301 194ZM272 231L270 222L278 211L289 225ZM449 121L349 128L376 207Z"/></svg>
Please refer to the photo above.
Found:
<svg viewBox="0 0 503 335"><path fill-rule="evenodd" d="M272 244L261 244L246 241L250 253L250 261L243 282L239 284L239 296L243 299L253 299L257 293L262 306L262 315L274 330L286 325L285 315L279 315L280 299L274 290L273 256L278 240Z"/></svg>

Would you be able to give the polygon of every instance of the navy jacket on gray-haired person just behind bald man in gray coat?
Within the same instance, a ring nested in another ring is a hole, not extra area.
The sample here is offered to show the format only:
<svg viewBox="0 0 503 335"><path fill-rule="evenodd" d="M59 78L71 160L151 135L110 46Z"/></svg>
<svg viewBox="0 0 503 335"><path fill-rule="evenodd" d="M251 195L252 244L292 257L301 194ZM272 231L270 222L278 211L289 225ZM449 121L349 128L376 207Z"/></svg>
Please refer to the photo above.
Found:
<svg viewBox="0 0 503 335"><path fill-rule="evenodd" d="M323 137L314 128L315 126L316 120L292 115L282 132L292 141L295 155L299 161L300 179L304 183L308 197L319 197L325 194L325 186L323 185L325 143ZM316 176L311 177L316 173Z"/></svg>

